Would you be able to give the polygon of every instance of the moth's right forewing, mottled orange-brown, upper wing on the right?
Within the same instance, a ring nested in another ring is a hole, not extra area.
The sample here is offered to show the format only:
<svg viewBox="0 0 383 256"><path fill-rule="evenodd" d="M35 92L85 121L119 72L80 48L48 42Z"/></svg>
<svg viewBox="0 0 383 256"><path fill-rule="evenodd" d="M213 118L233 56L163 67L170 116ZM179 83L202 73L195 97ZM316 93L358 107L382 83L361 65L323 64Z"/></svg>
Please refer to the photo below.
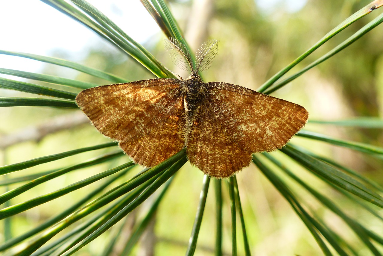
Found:
<svg viewBox="0 0 383 256"><path fill-rule="evenodd" d="M307 110L295 103L234 84L207 86L217 119L241 148L253 153L282 148L307 122Z"/></svg>

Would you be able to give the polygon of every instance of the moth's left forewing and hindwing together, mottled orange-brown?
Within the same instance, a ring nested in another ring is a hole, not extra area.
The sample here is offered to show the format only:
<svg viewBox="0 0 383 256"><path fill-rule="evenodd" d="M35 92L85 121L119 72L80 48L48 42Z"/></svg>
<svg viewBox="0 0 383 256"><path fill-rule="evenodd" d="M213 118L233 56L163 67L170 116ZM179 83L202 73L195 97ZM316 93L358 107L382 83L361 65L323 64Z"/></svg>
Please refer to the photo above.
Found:
<svg viewBox="0 0 383 256"><path fill-rule="evenodd" d="M153 166L184 146L181 80L149 79L83 90L81 110L134 161Z"/></svg>

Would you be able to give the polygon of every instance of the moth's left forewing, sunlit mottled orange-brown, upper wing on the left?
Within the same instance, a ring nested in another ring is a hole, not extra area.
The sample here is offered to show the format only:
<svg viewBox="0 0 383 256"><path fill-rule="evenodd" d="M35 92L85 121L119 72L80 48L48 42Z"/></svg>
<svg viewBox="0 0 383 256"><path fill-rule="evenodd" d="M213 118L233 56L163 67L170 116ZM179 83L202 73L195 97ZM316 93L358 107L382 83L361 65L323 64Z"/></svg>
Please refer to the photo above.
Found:
<svg viewBox="0 0 383 256"><path fill-rule="evenodd" d="M180 97L180 80L148 79L80 92L77 105L100 133L122 141L147 134Z"/></svg>

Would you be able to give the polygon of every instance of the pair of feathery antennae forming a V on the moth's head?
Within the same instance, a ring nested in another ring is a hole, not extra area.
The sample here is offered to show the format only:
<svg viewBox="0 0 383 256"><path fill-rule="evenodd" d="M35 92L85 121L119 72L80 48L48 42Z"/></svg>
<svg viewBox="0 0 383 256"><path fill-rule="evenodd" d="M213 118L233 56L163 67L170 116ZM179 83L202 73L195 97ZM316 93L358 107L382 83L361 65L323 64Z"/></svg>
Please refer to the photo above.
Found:
<svg viewBox="0 0 383 256"><path fill-rule="evenodd" d="M199 76L198 72L207 70L218 54L218 41L209 40L201 44L195 54L195 62L190 51L181 42L169 38L165 39L165 51L170 52L170 59L182 70L189 71L191 75Z"/></svg>

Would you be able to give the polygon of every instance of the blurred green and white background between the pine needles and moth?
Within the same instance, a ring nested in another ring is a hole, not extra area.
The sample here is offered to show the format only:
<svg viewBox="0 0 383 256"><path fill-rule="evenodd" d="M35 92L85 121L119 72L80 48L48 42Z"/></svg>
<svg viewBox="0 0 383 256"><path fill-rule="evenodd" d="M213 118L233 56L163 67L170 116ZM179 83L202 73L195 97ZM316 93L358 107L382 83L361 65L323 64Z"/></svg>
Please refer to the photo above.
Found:
<svg viewBox="0 0 383 256"><path fill-rule="evenodd" d="M185 77L186 74L179 71L177 67L173 67L161 41L165 39L164 35L138 0L90 0L89 2L111 18L129 36L149 49L166 67ZM369 2L362 0L182 0L169 1L169 4L193 50L207 39L219 40L218 57L211 68L203 74L206 82L213 80L229 82L256 90L328 31ZM0 24L3 24L0 49L61 57L108 71L132 81L154 78L154 75L104 42L96 34L40 1L5 1L0 3L0 6ZM351 25L319 48L289 74L300 70L327 53L375 18L380 11L380 9L373 11ZM379 118L383 111L382 42L383 27L378 26L341 53L306 72L272 95L304 106L310 113L310 120ZM41 63L0 55L0 67L3 68L57 75L99 85L108 84L105 80L70 69ZM15 79L15 77L7 75L1 76ZM28 94L0 90L1 97L22 95ZM64 123L67 126L63 125L65 129L58 128L44 132L43 129L46 126L62 120L66 120ZM306 128L336 138L377 146L382 145L383 142L380 129L339 128L314 123L308 123ZM20 139L20 136L23 135L25 138ZM100 135L86 119L82 118L80 110L9 107L0 109L0 141L3 143L0 145L0 165L5 165L109 140ZM293 141L319 155L330 156L378 183L383 182L381 178L382 163L379 160L355 154L348 149L303 138L293 138ZM30 168L28 173L75 164L99 153L100 151L84 153L61 159ZM282 156L276 155L278 158L284 159ZM126 159L119 161L122 163ZM325 193L332 193L334 199L339 197L339 205L346 212L359 218L363 223L367 223L377 233L383 233L382 227L375 225L373 220L364 218L363 213L358 212L355 205L348 203L347 200L342 200L340 195L311 174L300 171L300 167L292 161L286 159L285 161L285 164L298 172L302 179L309 183L312 182L316 188ZM58 187L72 184L88 177L89 173L104 170L105 167L107 166L102 165L97 168L82 169L59 177L39 185L38 189L16 197L12 203L22 202L56 190ZM138 170L141 167L136 168ZM15 176L17 175L10 174L9 178ZM185 252L198 204L202 178L202 172L190 167L189 164L178 171L164 202L160 205L155 222L134 253L150 255L155 251L156 255L180 255ZM321 255L321 250L306 226L255 166L250 165L249 168L241 171L237 175L237 179L249 243L254 255ZM286 182L290 181L286 180ZM97 187L97 183L92 184L91 187ZM10 186L10 188L13 187ZM80 189L75 194L65 195L58 200L17 215L12 223L12 235L22 234L65 209L65 205L75 200L82 191L85 192L87 189L89 188ZM230 208L226 188L224 191L226 199L224 201L224 250L230 253ZM322 210L321 205L306 195L306 192L301 191L299 187L296 187L295 192L302 193L301 197L309 203L312 202L311 207L316 209L318 215L326 219L328 225L339 227L339 232L348 236L349 230L338 217L327 210ZM213 255L214 206L214 193L211 191L195 255ZM141 212L144 211L145 205L142 205L131 214L128 221L124 223L126 227L121 239L128 236L136 218L140 218ZM2 224L0 224L0 228L2 228ZM98 252L105 246L105 239L108 236L113 236L113 230L103 234L75 255L98 255ZM0 234L0 241L4 239ZM240 244L241 237L239 236L238 239L238 244ZM349 239L353 240L355 237L350 235ZM155 246L150 246L151 243ZM239 246L239 255L243 253L241 250L241 246ZM364 255L363 251L360 253L360 255Z"/></svg>

